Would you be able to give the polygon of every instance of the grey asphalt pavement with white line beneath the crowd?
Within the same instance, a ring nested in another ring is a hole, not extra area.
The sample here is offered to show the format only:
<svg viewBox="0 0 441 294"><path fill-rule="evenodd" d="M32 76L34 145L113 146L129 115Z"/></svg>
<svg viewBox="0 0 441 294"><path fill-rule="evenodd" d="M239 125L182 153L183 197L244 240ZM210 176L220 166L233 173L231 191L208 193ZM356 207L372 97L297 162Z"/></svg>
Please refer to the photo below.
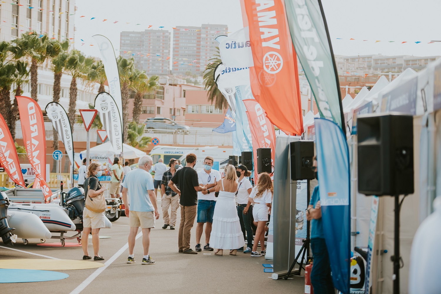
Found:
<svg viewBox="0 0 441 294"><path fill-rule="evenodd" d="M158 201L158 206L161 203ZM224 250L224 256L215 256L214 252L202 251L197 255L178 253L179 209L176 230L162 229L162 213L156 222L156 228L150 234L149 254L156 264L145 265L142 261L142 236L136 240L135 264L127 264L127 236L129 221L120 217L113 222L112 229L101 229L100 235L112 238L100 239L100 255L105 257L107 267L98 269L64 270L67 279L38 283L4 283L2 293L19 290L30 294L97 294L97 293L304 293L304 278L273 280L271 273L263 272L262 264L272 264L264 257L250 257L250 254L238 252L231 256ZM196 224L196 223L195 223ZM194 225L191 231L191 246L196 245ZM141 230L139 230L141 232ZM205 234L202 234L205 241ZM12 247L31 253L60 259L81 260L81 247L51 248L36 244L38 239L30 239L23 245L21 239ZM47 242L57 242L51 240ZM69 240L67 242L76 242ZM1 244L3 245L3 244ZM91 240L89 253L93 255ZM206 254L204 254L206 253ZM113 258L112 258L113 257ZM0 248L0 259L41 258L29 253ZM113 259L113 261L112 261ZM98 261L88 261L98 262Z"/></svg>

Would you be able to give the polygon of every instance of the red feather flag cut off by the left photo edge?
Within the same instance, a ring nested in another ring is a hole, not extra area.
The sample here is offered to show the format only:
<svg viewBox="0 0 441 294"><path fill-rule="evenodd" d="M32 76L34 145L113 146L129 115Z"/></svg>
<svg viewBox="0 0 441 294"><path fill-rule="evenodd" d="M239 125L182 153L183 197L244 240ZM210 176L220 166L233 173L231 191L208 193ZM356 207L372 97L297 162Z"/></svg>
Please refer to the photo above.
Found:
<svg viewBox="0 0 441 294"><path fill-rule="evenodd" d="M12 140L11 132L7 127L7 123L0 114L0 163L4 166L7 175L17 184L24 188L22 169L19 163L19 156L15 143Z"/></svg>

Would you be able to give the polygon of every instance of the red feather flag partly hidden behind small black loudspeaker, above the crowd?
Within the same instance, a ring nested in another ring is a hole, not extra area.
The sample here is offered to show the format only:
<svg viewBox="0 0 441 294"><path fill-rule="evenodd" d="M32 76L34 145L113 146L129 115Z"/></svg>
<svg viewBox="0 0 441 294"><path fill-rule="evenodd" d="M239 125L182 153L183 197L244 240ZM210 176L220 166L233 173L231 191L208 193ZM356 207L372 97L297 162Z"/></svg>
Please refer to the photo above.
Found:
<svg viewBox="0 0 441 294"><path fill-rule="evenodd" d="M248 122L250 123L251 137L253 140L254 164L257 164L258 148L271 148L271 165L274 166L276 151L276 132L274 125L266 117L265 110L254 99L243 100L245 108L247 108ZM274 171L274 168L272 168ZM257 171L257 165L254 167ZM257 173L255 173L256 176Z"/></svg>

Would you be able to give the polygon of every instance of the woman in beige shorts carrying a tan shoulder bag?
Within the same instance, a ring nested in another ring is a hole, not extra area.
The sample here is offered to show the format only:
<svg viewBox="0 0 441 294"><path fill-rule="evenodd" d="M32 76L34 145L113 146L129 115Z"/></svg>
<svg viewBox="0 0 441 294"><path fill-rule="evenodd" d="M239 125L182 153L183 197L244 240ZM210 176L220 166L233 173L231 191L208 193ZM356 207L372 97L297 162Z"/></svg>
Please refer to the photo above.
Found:
<svg viewBox="0 0 441 294"><path fill-rule="evenodd" d="M89 234L92 231L93 257L94 261L103 261L104 257L98 255L100 249L99 232L105 227L106 202L104 199L105 186L101 186L98 177L102 174L101 164L93 162L89 165L88 177L84 181L84 196L86 205L83 211L83 231L82 231L82 249L84 251L83 259L92 259L89 255Z"/></svg>

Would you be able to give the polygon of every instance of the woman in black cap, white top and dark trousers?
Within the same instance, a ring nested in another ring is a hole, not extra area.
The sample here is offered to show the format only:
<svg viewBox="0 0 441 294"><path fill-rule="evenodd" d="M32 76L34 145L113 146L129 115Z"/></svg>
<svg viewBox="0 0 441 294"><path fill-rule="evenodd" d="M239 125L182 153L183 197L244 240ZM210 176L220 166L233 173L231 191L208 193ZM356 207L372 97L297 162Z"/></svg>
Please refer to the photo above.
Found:
<svg viewBox="0 0 441 294"><path fill-rule="evenodd" d="M243 253L251 253L253 248L253 229L251 228L251 223L253 222L253 206L249 201L251 190L253 186L250 180L247 178L251 175L247 167L243 164L236 168L236 174L238 179L238 188L236 191L236 201L237 201L237 215L239 216L240 227L242 228L243 238L247 241L247 249ZM247 238L245 238L245 232L247 232ZM242 251L239 248L237 251Z"/></svg>

